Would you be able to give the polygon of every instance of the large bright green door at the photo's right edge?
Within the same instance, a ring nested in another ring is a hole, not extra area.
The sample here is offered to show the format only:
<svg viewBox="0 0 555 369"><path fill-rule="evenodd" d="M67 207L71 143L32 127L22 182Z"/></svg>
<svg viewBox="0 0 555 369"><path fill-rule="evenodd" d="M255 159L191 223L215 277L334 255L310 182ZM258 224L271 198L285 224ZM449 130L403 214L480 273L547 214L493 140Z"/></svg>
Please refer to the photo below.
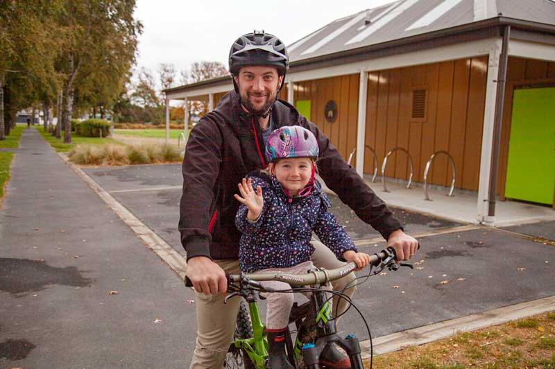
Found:
<svg viewBox="0 0 555 369"><path fill-rule="evenodd" d="M505 196L553 204L555 189L555 88L517 89Z"/></svg>

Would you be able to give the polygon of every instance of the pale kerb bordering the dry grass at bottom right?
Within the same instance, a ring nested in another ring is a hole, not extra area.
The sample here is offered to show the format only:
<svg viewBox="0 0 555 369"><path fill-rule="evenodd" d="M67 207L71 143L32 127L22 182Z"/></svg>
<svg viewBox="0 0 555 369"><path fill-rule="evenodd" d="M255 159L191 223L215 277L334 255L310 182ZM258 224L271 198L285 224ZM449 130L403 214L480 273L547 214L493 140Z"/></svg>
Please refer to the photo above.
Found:
<svg viewBox="0 0 555 369"><path fill-rule="evenodd" d="M498 325L527 316L543 314L555 310L555 296L527 301L516 305L500 307L489 312L472 314L440 323L413 328L404 332L388 334L373 339L374 355L398 351L414 345L423 345L445 339L459 332L470 332L480 328ZM370 340L361 342L363 359L370 359Z"/></svg>

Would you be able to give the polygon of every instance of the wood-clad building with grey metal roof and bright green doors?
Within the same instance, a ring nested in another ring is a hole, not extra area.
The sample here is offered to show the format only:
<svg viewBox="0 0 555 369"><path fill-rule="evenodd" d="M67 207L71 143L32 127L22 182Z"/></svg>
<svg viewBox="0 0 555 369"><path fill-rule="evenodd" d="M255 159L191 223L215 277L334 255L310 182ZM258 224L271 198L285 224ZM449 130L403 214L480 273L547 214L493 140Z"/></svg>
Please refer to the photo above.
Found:
<svg viewBox="0 0 555 369"><path fill-rule="evenodd" d="M412 162L423 181L435 153L427 183L451 186L454 164L454 186L477 192L477 222L495 222L496 194L555 208L554 1L400 0L288 50L280 97L345 159L356 148L360 174L394 150L385 176L409 179ZM225 77L166 93L214 107L230 89Z"/></svg>

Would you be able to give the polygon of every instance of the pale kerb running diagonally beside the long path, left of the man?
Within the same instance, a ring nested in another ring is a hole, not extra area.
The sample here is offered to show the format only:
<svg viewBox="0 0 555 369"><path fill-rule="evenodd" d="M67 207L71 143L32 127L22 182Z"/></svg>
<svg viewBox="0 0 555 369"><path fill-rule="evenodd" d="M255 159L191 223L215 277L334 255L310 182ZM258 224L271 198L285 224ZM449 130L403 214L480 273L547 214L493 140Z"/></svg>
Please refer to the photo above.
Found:
<svg viewBox="0 0 555 369"><path fill-rule="evenodd" d="M160 236L154 233L151 228L148 228L141 220L133 213L131 213L127 208L119 203L110 193L104 190L98 183L96 183L91 177L89 177L83 170L78 168L77 165L71 163L67 156L58 153L58 156L69 165L77 175L89 185L94 192L96 192L101 199L104 200L114 213L123 220L131 230L139 237L139 239L148 246L162 261L167 264L169 269L178 275L179 278L185 280L185 270L187 269L187 262L185 258L180 255L176 250L173 249L167 242L162 240Z"/></svg>

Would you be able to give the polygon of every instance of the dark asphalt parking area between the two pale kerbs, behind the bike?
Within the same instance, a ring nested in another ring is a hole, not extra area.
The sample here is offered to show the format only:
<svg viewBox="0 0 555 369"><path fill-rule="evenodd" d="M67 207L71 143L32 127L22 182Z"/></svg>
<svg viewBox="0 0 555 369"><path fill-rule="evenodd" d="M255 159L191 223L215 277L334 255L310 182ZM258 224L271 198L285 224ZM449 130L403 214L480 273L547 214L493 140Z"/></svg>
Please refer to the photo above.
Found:
<svg viewBox="0 0 555 369"><path fill-rule="evenodd" d="M86 168L85 172L184 254L176 229L180 165ZM335 195L330 198L332 211L354 240L379 236ZM407 233L461 225L399 208L392 210ZM555 280L552 246L484 229L424 237L420 243L415 269L385 271L358 287L355 303L368 320L373 336L555 294L555 284L547 282ZM359 249L375 253L383 246L373 243ZM355 309L343 318L341 330L368 337Z"/></svg>

